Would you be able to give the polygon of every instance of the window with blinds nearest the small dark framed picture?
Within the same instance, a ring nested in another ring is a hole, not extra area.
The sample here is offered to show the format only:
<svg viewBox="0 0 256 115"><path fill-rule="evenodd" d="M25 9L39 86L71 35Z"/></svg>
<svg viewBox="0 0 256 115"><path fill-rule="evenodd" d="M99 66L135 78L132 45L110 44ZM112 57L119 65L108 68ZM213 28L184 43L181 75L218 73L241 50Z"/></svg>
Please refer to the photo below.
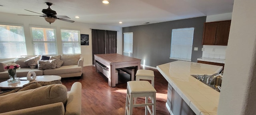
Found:
<svg viewBox="0 0 256 115"><path fill-rule="evenodd" d="M81 54L80 31L61 30L61 40L63 54Z"/></svg>

